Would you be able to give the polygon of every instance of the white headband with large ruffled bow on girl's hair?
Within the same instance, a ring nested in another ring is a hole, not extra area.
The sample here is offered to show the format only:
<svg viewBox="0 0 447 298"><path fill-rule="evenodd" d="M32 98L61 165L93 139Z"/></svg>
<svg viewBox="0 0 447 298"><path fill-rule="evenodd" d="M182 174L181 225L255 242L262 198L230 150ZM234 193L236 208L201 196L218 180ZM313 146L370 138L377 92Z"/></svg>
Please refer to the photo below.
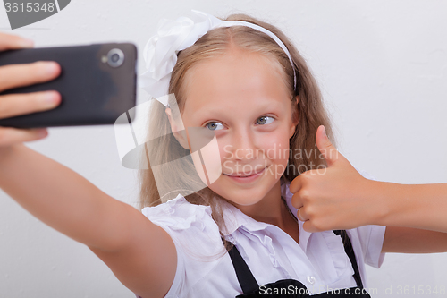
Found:
<svg viewBox="0 0 447 298"><path fill-rule="evenodd" d="M146 72L139 77L139 86L145 89L152 97L167 105L169 81L171 72L177 62L177 54L192 46L198 38L201 38L209 30L219 27L246 26L254 30L266 33L269 37L283 48L284 53L289 57L291 67L293 61L291 54L284 46L283 42L274 33L248 21L222 21L215 16L192 10L192 13L200 16L202 21L194 22L190 18L180 17L177 20L162 19L158 23L156 35L148 40L144 47L143 57L146 62ZM293 71L294 86L297 84L296 73ZM164 98L161 98L164 97Z"/></svg>

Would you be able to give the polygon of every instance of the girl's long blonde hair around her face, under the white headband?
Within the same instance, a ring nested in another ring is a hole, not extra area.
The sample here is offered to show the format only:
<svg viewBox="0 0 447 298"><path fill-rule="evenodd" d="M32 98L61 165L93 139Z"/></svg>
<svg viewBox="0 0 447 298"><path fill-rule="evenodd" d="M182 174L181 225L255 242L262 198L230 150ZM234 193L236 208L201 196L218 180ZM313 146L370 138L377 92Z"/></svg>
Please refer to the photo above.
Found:
<svg viewBox="0 0 447 298"><path fill-rule="evenodd" d="M283 34L283 32L271 24L259 21L246 14L232 14L223 21L249 21L273 32L288 48L294 64L294 69L283 49L278 46L273 38L270 38L261 31L245 26L210 30L203 37L199 38L194 45L182 50L178 54L178 60L173 68L169 84L169 93L173 93L175 97L171 98L172 100L170 100L169 105L178 105L178 110L182 114L186 100L184 96L185 89L187 89L187 86L185 86L184 83L185 75L192 67L194 67L194 65L207 61L207 59L213 59L215 56L224 55L230 47L239 47L240 49L249 52L265 55L267 58L276 61L283 69L284 81L287 88L290 90L293 111L292 119L296 119L297 116L299 118L295 133L290 139L290 149L292 154L289 158L288 166L282 175L282 179L291 182L299 175L299 173L302 173L305 170L315 168L316 166L326 166L325 160L320 158L319 152L318 154L300 154L298 156L294 154L296 151L316 152L315 138L316 129L319 125L325 125L326 134L329 139L333 141L331 124L323 106L320 90L318 89L316 80L309 71L303 57L299 55L298 50L292 45L291 41ZM294 71L297 78L296 86L293 86ZM298 104L295 101L297 95L299 96ZM153 100L153 102L155 103L156 100ZM149 152L143 152L143 154L149 154L151 158L155 157L151 160L156 160L156 165L161 165L169 160L190 155L190 150L181 147L180 143L173 138L171 126L164 111L165 107L162 105L153 105L151 107L148 126L150 129L156 129L156 132L148 131L148 140L152 140L150 137L151 135L161 135L162 137L157 139L159 141L159 146L156 146L156 148L155 146L147 147ZM173 115L173 118L180 116L181 115ZM203 184L197 175L192 158L186 159L184 163L185 165L180 168L176 167L170 169L169 166L167 166L165 169L166 173L169 173L169 171L183 171L183 173L179 173L178 175L182 177L181 180L159 182L169 183L170 185L166 186L171 188L173 188L173 185L176 185L176 189L173 189L173 196L190 188L199 189L194 188L194 186ZM300 172L301 169L304 171ZM160 198L156 187L156 180L150 166L149 169L139 170L139 181L140 209L147 206L156 206L165 200L170 199ZM173 198L173 196L171 198ZM185 199L192 204L210 206L212 209L212 217L217 226L219 226L221 235L223 235L225 225L223 221L222 206L219 204L220 200L225 200L223 197L211 191L208 187L205 187L198 192L186 195ZM225 201L229 202L228 200ZM225 247L229 249L231 244L225 243Z"/></svg>

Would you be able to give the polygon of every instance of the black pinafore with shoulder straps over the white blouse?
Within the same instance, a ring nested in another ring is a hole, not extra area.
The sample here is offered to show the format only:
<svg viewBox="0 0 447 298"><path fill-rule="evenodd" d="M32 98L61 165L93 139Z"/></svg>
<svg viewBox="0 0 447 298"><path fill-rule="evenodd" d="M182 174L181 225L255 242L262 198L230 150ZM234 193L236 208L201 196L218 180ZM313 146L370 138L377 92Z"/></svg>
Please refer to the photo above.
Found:
<svg viewBox="0 0 447 298"><path fill-rule="evenodd" d="M335 230L334 234L342 235L344 244L344 251L350 257L350 263L354 269L354 279L357 282L356 287L343 288L340 290L333 290L332 292L325 292L321 294L310 295L306 285L303 285L295 279L281 279L274 283L266 285L258 285L255 277L251 273L249 266L240 256L240 252L233 246L228 253L232 259L232 265L236 271L236 276L242 288L243 294L239 294L236 298L257 298L257 297L274 297L274 298L342 298L342 297L360 297L371 298L367 291L363 289L363 284L358 272L357 260L350 243L350 237L345 230ZM276 290L274 290L276 289ZM283 290L281 290L283 289Z"/></svg>

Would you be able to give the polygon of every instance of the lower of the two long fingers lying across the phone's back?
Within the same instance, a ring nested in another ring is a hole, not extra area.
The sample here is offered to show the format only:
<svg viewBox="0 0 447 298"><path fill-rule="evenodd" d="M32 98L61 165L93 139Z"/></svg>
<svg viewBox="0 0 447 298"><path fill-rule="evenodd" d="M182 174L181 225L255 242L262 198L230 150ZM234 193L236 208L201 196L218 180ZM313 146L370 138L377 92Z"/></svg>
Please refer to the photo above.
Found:
<svg viewBox="0 0 447 298"><path fill-rule="evenodd" d="M0 119L46 111L60 103L61 95L57 91L7 94L0 97Z"/></svg>

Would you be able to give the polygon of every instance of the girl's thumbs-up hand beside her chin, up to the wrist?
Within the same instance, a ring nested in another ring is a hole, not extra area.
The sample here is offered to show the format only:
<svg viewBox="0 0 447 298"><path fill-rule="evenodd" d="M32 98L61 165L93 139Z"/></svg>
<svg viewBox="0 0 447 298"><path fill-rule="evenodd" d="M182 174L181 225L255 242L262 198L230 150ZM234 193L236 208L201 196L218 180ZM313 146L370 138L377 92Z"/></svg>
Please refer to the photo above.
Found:
<svg viewBox="0 0 447 298"><path fill-rule="evenodd" d="M350 229L375 222L381 207L372 200L374 181L358 174L335 149L321 125L316 146L325 157L327 168L309 170L291 182L291 203L308 232Z"/></svg>

